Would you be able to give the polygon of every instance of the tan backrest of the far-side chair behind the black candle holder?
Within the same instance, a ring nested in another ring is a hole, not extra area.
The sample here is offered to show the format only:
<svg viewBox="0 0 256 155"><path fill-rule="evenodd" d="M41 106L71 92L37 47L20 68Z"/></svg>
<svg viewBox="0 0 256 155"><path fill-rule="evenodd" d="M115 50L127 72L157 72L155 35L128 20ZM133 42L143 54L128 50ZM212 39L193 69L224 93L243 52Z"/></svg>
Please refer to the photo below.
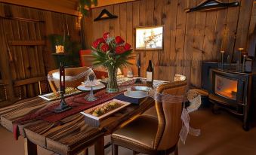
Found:
<svg viewBox="0 0 256 155"><path fill-rule="evenodd" d="M77 74L82 73L83 71L86 71L90 68L88 67L78 67L78 68L65 68L65 76L76 76ZM51 90L53 92L57 92L57 90L60 88L60 70L55 69L53 71L49 71L48 75L56 77L56 80L49 81ZM85 81L85 77L81 77L79 79L76 79L76 81L65 81L65 87L78 87L83 81Z"/></svg>

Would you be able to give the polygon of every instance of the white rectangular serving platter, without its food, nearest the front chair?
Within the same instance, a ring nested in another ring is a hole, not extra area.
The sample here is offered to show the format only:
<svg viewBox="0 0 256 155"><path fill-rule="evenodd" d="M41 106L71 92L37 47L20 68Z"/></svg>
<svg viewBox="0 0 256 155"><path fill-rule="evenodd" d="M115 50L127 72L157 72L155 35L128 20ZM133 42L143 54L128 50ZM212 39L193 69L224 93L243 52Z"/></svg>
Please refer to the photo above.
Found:
<svg viewBox="0 0 256 155"><path fill-rule="evenodd" d="M112 110L112 111L107 112L106 114L101 115L100 117L96 117L96 116L90 114L91 111L94 111L96 108L103 107L104 105L108 104L109 102L118 102L118 103L122 103L123 105L122 105L121 107L119 107L119 108L116 108L116 109L114 109L114 110ZM97 105L97 106L95 106L95 107L93 107L93 108L89 108L89 109L87 109L87 110L85 110L85 111L82 111L82 112L80 112L80 113L81 113L81 114L84 114L86 117L90 117L91 119L94 119L94 120L101 120L101 119L103 119L104 117L107 117L107 116L109 116L110 114L113 114L113 113L115 113L115 112L121 110L122 108L127 107L127 106L130 105L130 104L131 104L130 102L123 102L123 101L120 101L120 100L118 100L118 99L113 99L113 100L110 100L110 101L108 101L108 102L104 102L104 103L102 103L102 104L100 104L100 105Z"/></svg>

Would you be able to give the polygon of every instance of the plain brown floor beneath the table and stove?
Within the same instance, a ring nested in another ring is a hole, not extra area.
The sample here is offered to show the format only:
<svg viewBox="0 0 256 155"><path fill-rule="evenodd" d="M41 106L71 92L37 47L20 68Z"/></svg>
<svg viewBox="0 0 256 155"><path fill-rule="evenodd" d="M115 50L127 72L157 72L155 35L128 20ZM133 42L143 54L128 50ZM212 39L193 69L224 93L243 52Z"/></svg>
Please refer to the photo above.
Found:
<svg viewBox="0 0 256 155"><path fill-rule="evenodd" d="M201 129L199 137L189 135L186 144L179 144L180 155L255 155L256 154L256 127L245 132L242 121L233 115L222 111L221 114L212 114L209 108L202 108L190 114L191 126ZM105 139L109 141L109 137ZM53 155L51 151L38 148L39 155ZM90 147L89 154L94 148ZM22 155L23 138L14 141L11 132L0 127L0 154ZM111 147L106 148L105 154L111 154ZM132 154L131 150L119 147L119 154Z"/></svg>

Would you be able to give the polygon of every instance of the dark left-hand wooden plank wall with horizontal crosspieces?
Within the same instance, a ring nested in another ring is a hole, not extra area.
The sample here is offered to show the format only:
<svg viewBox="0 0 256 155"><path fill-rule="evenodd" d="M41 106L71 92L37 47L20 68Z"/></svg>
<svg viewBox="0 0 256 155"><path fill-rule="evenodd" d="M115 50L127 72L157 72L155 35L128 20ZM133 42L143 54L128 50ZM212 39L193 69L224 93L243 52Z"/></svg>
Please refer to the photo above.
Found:
<svg viewBox="0 0 256 155"><path fill-rule="evenodd" d="M42 80L56 68L47 36L69 30L72 41L80 42L76 20L72 15L0 3L0 68L9 100L19 98L20 90L22 99L39 95L38 84L25 83Z"/></svg>

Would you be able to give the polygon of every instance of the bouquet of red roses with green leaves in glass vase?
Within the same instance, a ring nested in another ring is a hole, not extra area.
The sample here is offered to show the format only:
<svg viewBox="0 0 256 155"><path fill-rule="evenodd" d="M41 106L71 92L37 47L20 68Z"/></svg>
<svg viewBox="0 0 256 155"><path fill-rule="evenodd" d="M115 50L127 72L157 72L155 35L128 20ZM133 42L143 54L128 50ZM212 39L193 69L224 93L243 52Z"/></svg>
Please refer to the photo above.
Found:
<svg viewBox="0 0 256 155"><path fill-rule="evenodd" d="M117 87L117 68L131 65L128 59L131 57L131 45L117 36L110 37L109 32L103 34L103 38L98 38L92 44L94 65L102 65L108 71L109 81L106 91L109 93L118 92Z"/></svg>

